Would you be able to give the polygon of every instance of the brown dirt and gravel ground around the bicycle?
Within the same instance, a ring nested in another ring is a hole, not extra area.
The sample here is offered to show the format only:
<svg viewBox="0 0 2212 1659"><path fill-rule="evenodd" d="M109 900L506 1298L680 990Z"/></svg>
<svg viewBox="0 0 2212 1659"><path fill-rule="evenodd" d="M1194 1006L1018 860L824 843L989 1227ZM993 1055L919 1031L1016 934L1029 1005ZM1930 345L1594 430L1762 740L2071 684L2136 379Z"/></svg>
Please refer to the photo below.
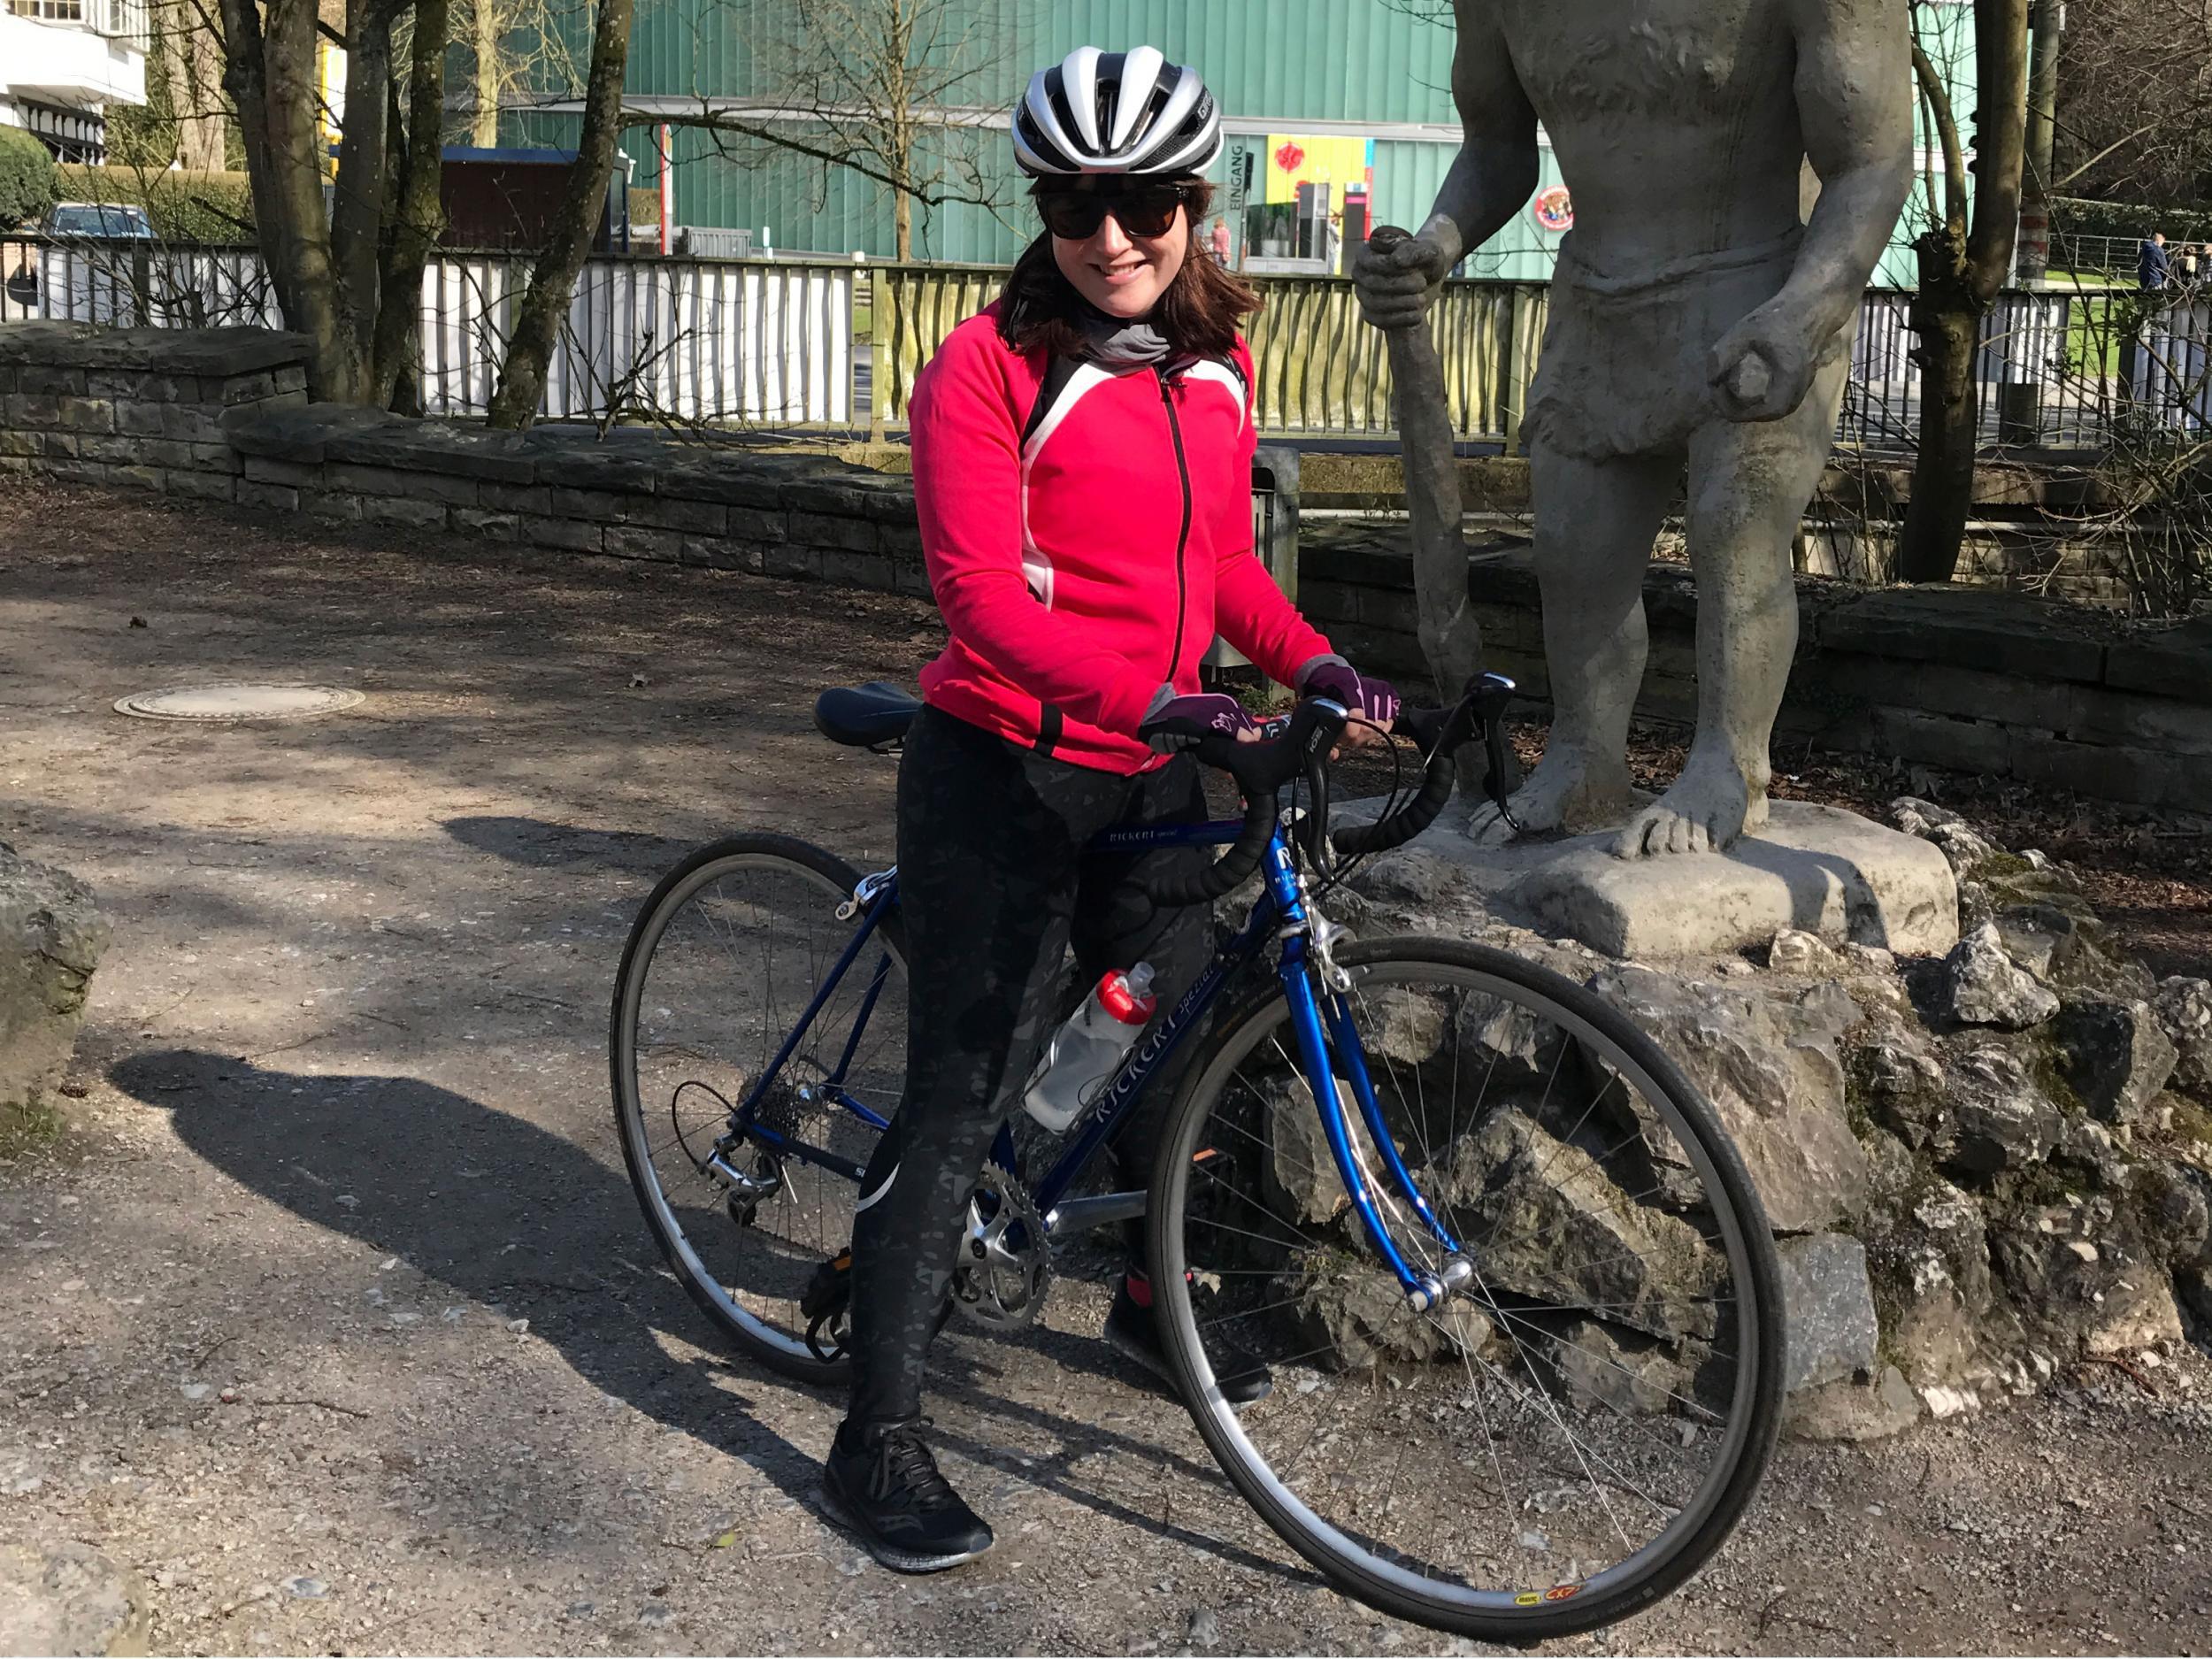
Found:
<svg viewBox="0 0 2212 1659"><path fill-rule="evenodd" d="M659 1270L606 1106L633 907L732 827L885 854L891 765L807 706L911 677L927 608L13 482L0 549L0 838L115 920L80 1126L0 1168L0 1533L142 1573L168 1652L1471 1650L1294 1564L1082 1276L938 1349L998 1551L880 1573L814 1498L838 1402ZM215 679L367 701L111 708ZM1562 1646L2203 1650L2208 1400L2183 1354L1785 1444L1712 1571Z"/></svg>

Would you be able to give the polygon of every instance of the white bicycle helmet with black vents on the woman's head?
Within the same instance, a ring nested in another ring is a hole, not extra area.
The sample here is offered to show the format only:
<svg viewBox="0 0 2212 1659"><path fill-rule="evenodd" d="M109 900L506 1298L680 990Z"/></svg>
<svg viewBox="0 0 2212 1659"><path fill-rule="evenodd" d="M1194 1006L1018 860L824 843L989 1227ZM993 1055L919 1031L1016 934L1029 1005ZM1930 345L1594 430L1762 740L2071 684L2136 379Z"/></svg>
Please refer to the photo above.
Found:
<svg viewBox="0 0 2212 1659"><path fill-rule="evenodd" d="M1203 177L1221 155L1221 106L1199 71L1170 66L1155 46L1082 46L1031 75L1013 153L1037 177Z"/></svg>

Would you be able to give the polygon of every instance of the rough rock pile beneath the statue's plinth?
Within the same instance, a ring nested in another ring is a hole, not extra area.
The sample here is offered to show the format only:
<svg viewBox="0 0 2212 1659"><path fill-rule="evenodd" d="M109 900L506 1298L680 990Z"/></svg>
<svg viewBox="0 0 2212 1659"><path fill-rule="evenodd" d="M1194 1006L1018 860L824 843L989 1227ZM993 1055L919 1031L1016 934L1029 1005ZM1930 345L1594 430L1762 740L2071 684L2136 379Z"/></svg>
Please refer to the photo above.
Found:
<svg viewBox="0 0 2212 1659"><path fill-rule="evenodd" d="M1363 936L1447 931L1544 960L1692 1075L1781 1241L1792 1425L1809 1436L1896 1431L2033 1391L2081 1356L2157 1354L2185 1321L2212 1329L2212 984L2159 984L2115 951L2042 854L2004 852L1929 801L1891 816L1958 876L1962 936L1944 958L1783 931L1734 958L1619 962L1498 922L1420 847L1360 872L1343 907ZM1493 1177L1509 1199L1482 1201L1531 1208L1502 1232L1555 1248L1489 1263L1495 1285L1533 1307L1613 1310L1568 1349L1608 1363L1566 1387L1626 1409L1679 1394L1677 1360L1646 1349L1679 1356L1699 1336L1681 1279L1599 1287L1577 1267L1577 1252L1648 1259L1661 1241L1608 1239L1624 1221L1573 1197L1582 1155L1551 1139L1564 1130L1506 1113L1484 1133L1498 1146L1482 1168L1522 1157L1551 1186ZM1352 1318L1312 1310L1323 1327Z"/></svg>

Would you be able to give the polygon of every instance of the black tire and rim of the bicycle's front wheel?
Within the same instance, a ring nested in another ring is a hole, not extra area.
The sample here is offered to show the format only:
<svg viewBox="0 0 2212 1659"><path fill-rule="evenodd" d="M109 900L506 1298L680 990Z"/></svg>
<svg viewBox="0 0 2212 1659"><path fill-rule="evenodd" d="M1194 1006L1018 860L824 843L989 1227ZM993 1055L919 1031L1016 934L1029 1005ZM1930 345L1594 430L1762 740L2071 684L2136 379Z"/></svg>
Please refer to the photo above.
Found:
<svg viewBox="0 0 2212 1659"><path fill-rule="evenodd" d="M1694 1522L1679 1533L1668 1526L1661 1533L1668 1548L1635 1573L1617 1582L1595 1575L1588 1595L1579 1586L1566 1590L1566 1599L1546 1599L1540 1590L1522 1590L1509 1599L1504 1588L1464 1593L1458 1588L1444 1593L1442 1584L1425 1588L1427 1579L1420 1586L1411 1584L1409 1573L1387 1566L1374 1553L1354 1548L1340 1526L1314 1515L1265 1464L1248 1438L1239 1411L1230 1409L1212 1389L1212 1374L1203 1369L1194 1303L1201 1292L1186 1276L1192 1265L1183 1239L1186 1210L1192 1206L1192 1181L1206 1172L1201 1166L1210 1159L1210 1152L1201 1150L1208 1144L1208 1124L1223 1088L1239 1075L1241 1057L1256 1053L1259 1044L1265 1042L1265 1026L1287 1015L1281 984L1254 993L1221 1020L1206 1053L1190 1066L1161 1135L1152 1175L1148 1243L1155 1294L1161 1307L1161 1336L1183 1400L1232 1486L1276 1535L1338 1590L1380 1613L1433 1630L1511 1646L1528 1646L1632 1617L1679 1588L1721 1546L1759 1489L1781 1425L1785 1369L1781 1270L1765 1212L1743 1159L1714 1108L1644 1031L1595 993L1548 969L1489 947L1433 938L1347 945L1336 951L1336 960L1356 975L1363 971L1371 975L1383 964L1427 964L1473 975L1478 987L1502 989L1522 1009L1546 1009L1557 1018L1562 1031L1577 1040L1590 1040L1595 1053L1608 1064L1628 1068L1626 1075L1632 1084L1657 1091L1668 1102L1705 1159L1699 1175L1714 1192L1714 1221L1730 1248L1739 1294L1752 1303L1747 1316L1741 1316L1743 1334L1734 1356L1739 1416L1732 1418L1730 1436L1723 1438L1714 1475L1699 1491ZM1484 995L1491 993L1491 989L1484 991ZM1458 1073L1453 1073L1455 1086ZM1301 1099L1303 1110L1312 1110L1310 1088ZM1334 1166L1329 1168L1334 1170ZM1276 1294L1276 1283L1267 1281L1263 1294ZM1495 1312L1495 1298L1491 1307ZM1473 1376L1469 1369L1469 1378ZM1281 1378L1276 1394L1283 1394ZM1263 1409L1252 1407L1245 1418ZM1484 1431L1489 1440L1498 1440L1486 1422ZM1690 1442L1683 1440L1683 1444ZM1301 1449L1298 1455L1303 1458L1305 1451ZM1584 1464L1584 1473L1590 1473L1588 1464ZM1500 1484L1506 1484L1502 1469ZM1387 1509L1389 1502L1385 1502ZM1617 1571L1608 1568L1608 1573ZM1531 1599L1535 1606L1528 1606Z"/></svg>

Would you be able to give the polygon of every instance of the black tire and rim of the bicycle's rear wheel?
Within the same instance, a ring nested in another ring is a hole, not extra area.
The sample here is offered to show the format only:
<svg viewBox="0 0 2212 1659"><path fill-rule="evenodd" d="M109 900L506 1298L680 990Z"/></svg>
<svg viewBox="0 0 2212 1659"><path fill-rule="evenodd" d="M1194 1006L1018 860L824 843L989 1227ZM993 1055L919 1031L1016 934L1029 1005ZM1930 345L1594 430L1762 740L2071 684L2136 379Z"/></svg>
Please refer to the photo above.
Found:
<svg viewBox="0 0 2212 1659"><path fill-rule="evenodd" d="M622 951L622 967L615 973L615 1000L608 1022L608 1079L615 1104L615 1133L622 1141L624 1166L630 1188L644 1210L653 1239L668 1261L670 1272L699 1310L750 1356L774 1371L801 1383L841 1383L852 1363L847 1356L821 1360L794 1343L787 1332L748 1314L734 1296L708 1272L699 1252L690 1248L684 1228L675 1219L659 1172L653 1166L646 1102L637 1084L637 1020L644 991L650 978L653 956L684 905L690 902L717 872L781 867L794 872L812 887L821 889L825 907L849 898L860 874L832 852L779 834L741 834L699 847L670 869L646 898L630 927L630 938ZM858 922L852 922L858 927ZM905 933L898 914L889 914L878 925L885 949L905 973ZM803 1002L801 1002L803 1006ZM900 1053L900 1066L905 1055ZM858 1197L858 1190L854 1192ZM845 1234L849 1237L849 1232Z"/></svg>

